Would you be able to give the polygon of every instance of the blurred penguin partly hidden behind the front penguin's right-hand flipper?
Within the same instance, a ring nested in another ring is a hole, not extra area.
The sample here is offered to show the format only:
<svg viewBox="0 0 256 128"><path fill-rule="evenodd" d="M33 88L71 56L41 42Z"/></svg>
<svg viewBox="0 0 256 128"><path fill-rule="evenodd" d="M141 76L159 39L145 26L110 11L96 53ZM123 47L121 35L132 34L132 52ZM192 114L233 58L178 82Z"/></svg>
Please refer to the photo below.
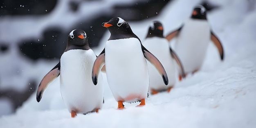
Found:
<svg viewBox="0 0 256 128"><path fill-rule="evenodd" d="M175 82L176 82L176 68L175 62L177 62L180 70L182 71L182 76L184 77L184 70L182 63L175 52L169 47L168 40L163 36L163 26L159 21L153 21L148 29L148 34L146 39L143 42L144 47L148 49L152 54L154 54L158 60L164 66L164 69L167 73L169 83L164 85L162 82L161 76L159 76L157 70L153 65L148 64L148 73L149 73L149 89L151 94L157 94L158 92L171 91Z"/></svg>

